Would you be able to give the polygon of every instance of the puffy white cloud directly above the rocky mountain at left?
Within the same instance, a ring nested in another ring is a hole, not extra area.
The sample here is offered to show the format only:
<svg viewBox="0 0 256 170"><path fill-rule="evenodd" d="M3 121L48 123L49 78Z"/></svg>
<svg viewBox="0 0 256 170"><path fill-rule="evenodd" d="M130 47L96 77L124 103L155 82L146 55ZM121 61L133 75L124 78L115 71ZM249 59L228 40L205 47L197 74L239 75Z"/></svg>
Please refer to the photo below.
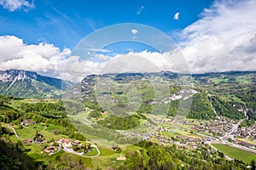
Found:
<svg viewBox="0 0 256 170"><path fill-rule="evenodd" d="M1 70L38 71L47 76L60 77L60 72L70 54L69 48L61 50L49 43L28 45L18 37L0 37Z"/></svg>

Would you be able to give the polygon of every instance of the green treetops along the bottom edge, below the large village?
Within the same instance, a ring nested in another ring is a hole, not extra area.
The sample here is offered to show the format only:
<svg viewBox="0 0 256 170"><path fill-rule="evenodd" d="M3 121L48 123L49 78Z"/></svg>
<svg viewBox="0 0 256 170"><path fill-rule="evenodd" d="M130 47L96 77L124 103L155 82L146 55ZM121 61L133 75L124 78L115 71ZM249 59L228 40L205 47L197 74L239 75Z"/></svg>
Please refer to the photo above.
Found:
<svg viewBox="0 0 256 170"><path fill-rule="evenodd" d="M189 151L172 146L160 146L150 141L143 141L138 146L141 150L126 154L125 165L119 169L246 169L242 161L227 161L223 155L206 145L199 150Z"/></svg>

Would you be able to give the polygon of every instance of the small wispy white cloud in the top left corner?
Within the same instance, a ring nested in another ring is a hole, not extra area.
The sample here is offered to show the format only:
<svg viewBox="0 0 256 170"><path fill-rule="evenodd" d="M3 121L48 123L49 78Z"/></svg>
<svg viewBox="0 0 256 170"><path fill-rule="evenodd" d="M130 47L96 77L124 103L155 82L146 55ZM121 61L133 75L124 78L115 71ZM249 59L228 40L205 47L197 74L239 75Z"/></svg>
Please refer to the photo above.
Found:
<svg viewBox="0 0 256 170"><path fill-rule="evenodd" d="M24 8L24 10L35 8L33 1L32 3L29 3L26 0L0 0L0 5L11 12L14 12L20 8Z"/></svg>

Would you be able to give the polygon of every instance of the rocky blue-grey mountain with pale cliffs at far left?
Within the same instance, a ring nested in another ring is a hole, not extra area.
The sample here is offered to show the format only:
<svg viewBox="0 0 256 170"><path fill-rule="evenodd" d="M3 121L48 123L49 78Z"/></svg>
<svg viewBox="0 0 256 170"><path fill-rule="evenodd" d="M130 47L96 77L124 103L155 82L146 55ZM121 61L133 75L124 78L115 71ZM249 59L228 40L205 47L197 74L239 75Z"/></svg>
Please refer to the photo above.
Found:
<svg viewBox="0 0 256 170"><path fill-rule="evenodd" d="M0 94L22 98L52 98L61 94L72 82L44 77L33 71L0 71Z"/></svg>

